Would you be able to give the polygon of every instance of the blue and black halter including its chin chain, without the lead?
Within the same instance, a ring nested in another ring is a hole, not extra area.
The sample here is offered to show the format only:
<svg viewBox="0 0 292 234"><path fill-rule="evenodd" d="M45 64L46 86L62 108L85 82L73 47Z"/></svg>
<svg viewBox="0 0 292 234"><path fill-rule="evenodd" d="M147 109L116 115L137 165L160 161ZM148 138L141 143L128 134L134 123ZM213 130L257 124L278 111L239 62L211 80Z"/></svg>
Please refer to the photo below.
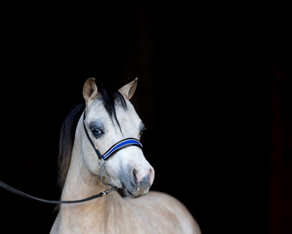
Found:
<svg viewBox="0 0 292 234"><path fill-rule="evenodd" d="M86 128L86 125L85 125L85 118L86 118L86 113L84 111L84 114L83 114L83 126L84 126L84 130L85 130L85 133L86 133L86 136L87 138L89 139L93 149L95 150L95 153L96 155L98 156L98 168L99 168L99 177L101 179L101 181L103 182L103 184L105 185L108 185L108 186L111 186L112 188L116 188L113 183L111 182L110 180L110 176L108 175L105 167L104 167L104 164L106 163L106 160L112 156L114 153L116 153L117 151L123 149L123 148L126 148L128 146L137 146L139 148L143 148L141 142L135 138L126 138L126 139L123 139L123 140L120 140L119 142L115 143L113 146L110 147L110 149L104 153L104 155L102 155L98 149L95 148L95 145L91 139L91 137L89 136L89 133L87 131L87 128ZM103 159L104 161L103 162L100 162L100 160ZM102 174L105 174L105 176L107 177L108 181L110 183L107 183L103 180L103 176Z"/></svg>

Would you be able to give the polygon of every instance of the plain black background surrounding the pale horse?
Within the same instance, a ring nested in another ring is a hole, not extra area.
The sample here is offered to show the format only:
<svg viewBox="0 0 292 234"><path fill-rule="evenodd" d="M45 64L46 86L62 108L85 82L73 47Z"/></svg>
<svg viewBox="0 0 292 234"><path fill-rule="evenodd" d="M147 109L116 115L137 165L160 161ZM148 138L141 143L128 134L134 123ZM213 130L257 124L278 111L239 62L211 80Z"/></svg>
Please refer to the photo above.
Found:
<svg viewBox="0 0 292 234"><path fill-rule="evenodd" d="M152 190L180 199L204 234L292 233L286 14L151 2L77 8L8 7L14 14L2 19L0 180L58 199L59 131L83 103L85 80L118 89L138 77L131 100L147 128ZM54 205L2 189L0 198L2 229L49 233Z"/></svg>

